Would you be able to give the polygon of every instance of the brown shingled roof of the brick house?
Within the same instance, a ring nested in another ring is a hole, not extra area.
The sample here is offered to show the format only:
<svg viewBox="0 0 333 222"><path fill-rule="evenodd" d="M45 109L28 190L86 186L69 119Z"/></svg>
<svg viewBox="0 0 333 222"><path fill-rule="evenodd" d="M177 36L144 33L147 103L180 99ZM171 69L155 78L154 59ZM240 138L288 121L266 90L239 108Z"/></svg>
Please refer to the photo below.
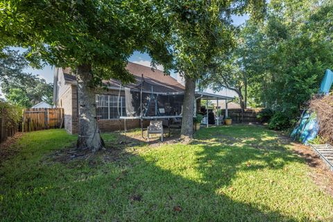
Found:
<svg viewBox="0 0 333 222"><path fill-rule="evenodd" d="M143 75L144 83L142 88L144 91L151 92L152 87L154 92L160 93L178 93L184 92L185 90L185 87L178 83L176 79L166 75L159 69L152 69L151 67L146 67L133 62L128 62L126 69L130 72L130 74L133 74L135 83L122 85L123 87L140 89ZM75 85L76 76L72 74L71 69L65 68L62 69L62 71L64 73L66 83ZM103 83L107 84L110 88L117 87L117 89L119 89L119 86L121 85L121 82L115 79L104 80Z"/></svg>

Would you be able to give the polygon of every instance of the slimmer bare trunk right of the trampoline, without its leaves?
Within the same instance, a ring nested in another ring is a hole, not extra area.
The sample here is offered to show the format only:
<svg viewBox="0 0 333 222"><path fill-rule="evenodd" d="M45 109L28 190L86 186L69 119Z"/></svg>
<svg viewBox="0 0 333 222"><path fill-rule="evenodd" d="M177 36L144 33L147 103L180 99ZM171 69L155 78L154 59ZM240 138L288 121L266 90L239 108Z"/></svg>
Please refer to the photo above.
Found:
<svg viewBox="0 0 333 222"><path fill-rule="evenodd" d="M194 103L196 101L196 80L185 76L185 95L182 110L182 129L180 137L185 142L193 138Z"/></svg>

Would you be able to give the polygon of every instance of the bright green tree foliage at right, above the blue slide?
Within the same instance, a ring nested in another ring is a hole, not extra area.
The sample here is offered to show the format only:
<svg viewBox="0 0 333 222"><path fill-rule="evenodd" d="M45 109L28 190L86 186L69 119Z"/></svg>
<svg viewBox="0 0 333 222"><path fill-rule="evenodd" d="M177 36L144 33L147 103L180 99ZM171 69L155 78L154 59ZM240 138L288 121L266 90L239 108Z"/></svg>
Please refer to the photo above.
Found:
<svg viewBox="0 0 333 222"><path fill-rule="evenodd" d="M332 69L332 6L332 1L270 1L262 22L241 26L237 47L217 60L204 85L234 89L240 99L250 97L277 111L290 126L318 92L325 69Z"/></svg>

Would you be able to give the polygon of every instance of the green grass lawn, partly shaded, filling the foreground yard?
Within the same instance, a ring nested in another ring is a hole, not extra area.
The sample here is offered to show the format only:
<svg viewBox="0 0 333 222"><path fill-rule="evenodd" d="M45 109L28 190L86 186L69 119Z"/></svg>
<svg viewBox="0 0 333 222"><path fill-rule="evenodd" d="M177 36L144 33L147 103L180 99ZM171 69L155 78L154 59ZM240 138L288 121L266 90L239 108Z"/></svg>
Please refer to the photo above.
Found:
<svg viewBox="0 0 333 222"><path fill-rule="evenodd" d="M333 199L273 131L221 126L195 137L148 146L108 133L106 151L60 161L76 136L26 133L0 163L0 220L333 221Z"/></svg>

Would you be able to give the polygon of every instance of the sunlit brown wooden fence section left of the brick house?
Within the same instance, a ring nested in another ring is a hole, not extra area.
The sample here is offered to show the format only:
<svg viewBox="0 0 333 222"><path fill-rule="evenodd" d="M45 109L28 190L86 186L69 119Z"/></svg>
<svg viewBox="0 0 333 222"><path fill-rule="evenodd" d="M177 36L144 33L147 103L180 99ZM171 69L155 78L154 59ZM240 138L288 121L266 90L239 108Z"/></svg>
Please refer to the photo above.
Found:
<svg viewBox="0 0 333 222"><path fill-rule="evenodd" d="M31 132L62 128L64 109L62 108L31 108L23 110L22 131Z"/></svg>

